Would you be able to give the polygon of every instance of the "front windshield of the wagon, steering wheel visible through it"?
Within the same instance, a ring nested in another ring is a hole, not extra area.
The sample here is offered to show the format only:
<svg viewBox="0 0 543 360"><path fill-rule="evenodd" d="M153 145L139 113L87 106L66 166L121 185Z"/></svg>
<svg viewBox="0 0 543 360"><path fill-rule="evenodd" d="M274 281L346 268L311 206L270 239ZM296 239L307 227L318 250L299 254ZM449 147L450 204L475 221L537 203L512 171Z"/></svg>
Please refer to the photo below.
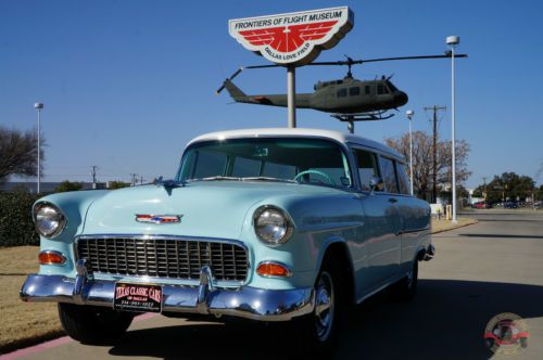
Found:
<svg viewBox="0 0 543 360"><path fill-rule="evenodd" d="M352 184L348 164L341 147L327 140L216 140L187 149L176 180L279 180L343 188Z"/></svg>

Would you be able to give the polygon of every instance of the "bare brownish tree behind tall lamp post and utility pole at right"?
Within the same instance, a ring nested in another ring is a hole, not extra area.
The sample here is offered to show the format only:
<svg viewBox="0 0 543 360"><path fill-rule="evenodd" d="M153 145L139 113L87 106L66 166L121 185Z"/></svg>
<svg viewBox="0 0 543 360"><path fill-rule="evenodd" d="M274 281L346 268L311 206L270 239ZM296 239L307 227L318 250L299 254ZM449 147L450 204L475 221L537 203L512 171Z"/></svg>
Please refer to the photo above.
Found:
<svg viewBox="0 0 543 360"><path fill-rule="evenodd" d="M387 144L409 160L409 134L384 140ZM425 197L430 193L433 182L433 140L424 131L413 132L413 188L415 193ZM451 184L451 141L438 141L437 146L437 179L438 187ZM456 182L458 187L471 175L467 169L469 144L465 140L456 141Z"/></svg>

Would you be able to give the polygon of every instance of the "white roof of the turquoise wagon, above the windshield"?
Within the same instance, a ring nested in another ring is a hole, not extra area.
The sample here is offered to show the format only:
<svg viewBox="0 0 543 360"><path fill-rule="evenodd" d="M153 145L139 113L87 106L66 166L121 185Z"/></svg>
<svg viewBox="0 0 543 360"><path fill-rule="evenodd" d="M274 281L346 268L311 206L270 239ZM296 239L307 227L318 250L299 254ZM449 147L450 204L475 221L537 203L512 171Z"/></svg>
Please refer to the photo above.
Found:
<svg viewBox="0 0 543 360"><path fill-rule="evenodd" d="M359 137L352 133L343 133L333 130L323 129L306 129L306 128L262 128L262 129L240 129L216 131L201 134L192 139L188 145L200 141L239 139L239 138L273 138L273 137L300 137L300 138L325 138L336 140L340 143L355 143L367 147L376 149L380 152L388 153L394 157L404 158L403 155L395 150L381 144L377 141Z"/></svg>

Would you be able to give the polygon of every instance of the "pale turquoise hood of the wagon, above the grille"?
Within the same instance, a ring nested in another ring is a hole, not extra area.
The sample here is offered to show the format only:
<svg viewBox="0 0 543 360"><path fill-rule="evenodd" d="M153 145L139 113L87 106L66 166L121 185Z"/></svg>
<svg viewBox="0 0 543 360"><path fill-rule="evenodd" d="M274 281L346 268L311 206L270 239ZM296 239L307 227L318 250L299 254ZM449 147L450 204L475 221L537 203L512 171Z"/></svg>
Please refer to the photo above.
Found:
<svg viewBox="0 0 543 360"><path fill-rule="evenodd" d="M338 190L296 183L198 181L179 188L143 185L111 191L89 207L84 234L154 234L239 239L248 211L275 196ZM266 202L269 201L269 202ZM136 221L136 215L180 216L179 223Z"/></svg>

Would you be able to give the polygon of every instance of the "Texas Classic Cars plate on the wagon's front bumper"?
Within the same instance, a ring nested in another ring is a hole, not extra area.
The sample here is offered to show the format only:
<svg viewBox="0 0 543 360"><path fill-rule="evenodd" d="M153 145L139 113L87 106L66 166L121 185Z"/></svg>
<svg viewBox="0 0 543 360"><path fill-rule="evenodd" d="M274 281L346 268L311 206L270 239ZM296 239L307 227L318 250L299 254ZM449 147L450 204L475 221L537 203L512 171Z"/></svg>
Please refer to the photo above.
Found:
<svg viewBox="0 0 543 360"><path fill-rule="evenodd" d="M162 286L116 283L113 308L125 311L161 312Z"/></svg>

